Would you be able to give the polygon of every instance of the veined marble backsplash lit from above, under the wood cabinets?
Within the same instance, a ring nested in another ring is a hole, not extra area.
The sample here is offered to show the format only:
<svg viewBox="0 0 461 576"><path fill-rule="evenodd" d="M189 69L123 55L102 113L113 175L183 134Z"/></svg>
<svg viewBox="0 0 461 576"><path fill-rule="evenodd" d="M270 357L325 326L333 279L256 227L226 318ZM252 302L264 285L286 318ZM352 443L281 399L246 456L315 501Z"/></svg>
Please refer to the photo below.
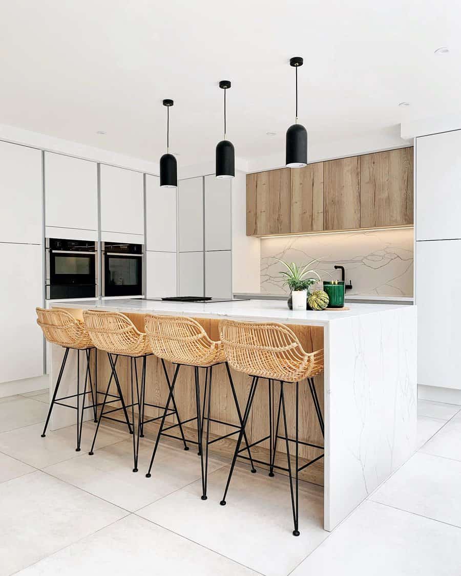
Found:
<svg viewBox="0 0 461 576"><path fill-rule="evenodd" d="M261 292L288 293L274 257L297 264L320 258L314 267L335 279L341 270L334 265L344 266L353 286L347 294L413 296L413 228L261 238Z"/></svg>

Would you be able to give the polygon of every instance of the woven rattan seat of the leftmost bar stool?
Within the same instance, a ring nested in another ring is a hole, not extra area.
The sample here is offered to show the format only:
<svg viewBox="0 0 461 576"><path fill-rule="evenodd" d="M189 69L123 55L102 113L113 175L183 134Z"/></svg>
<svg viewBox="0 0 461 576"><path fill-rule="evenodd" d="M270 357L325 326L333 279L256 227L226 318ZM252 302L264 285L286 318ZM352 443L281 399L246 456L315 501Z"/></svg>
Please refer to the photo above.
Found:
<svg viewBox="0 0 461 576"><path fill-rule="evenodd" d="M64 308L36 308L37 324L43 331L48 342L65 346L66 348L93 347L85 324L77 320Z"/></svg>

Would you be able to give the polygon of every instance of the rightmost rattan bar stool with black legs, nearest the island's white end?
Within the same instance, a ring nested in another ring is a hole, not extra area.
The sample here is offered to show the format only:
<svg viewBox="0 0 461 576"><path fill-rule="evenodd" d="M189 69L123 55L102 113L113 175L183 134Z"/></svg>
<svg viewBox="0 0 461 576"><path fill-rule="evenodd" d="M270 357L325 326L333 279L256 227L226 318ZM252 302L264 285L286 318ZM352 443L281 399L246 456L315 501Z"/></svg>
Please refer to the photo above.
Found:
<svg viewBox="0 0 461 576"><path fill-rule="evenodd" d="M245 407L243 416L242 430L237 440L224 495L220 503L222 506L226 504L226 495L229 490L230 479L232 478L237 457L246 458L240 454L244 450L240 449L243 433L248 422L248 416L250 416L258 382L260 378L267 379L269 382L269 435L256 442L252 442L250 446L255 446L256 444L260 444L260 442L269 440L269 462L254 461L267 465L269 467L269 476L274 476L274 468L288 472L294 523L293 535L299 536L298 475L301 470L307 468L324 456L324 446L311 444L310 442L301 442L299 439L299 382L307 379L319 427L322 435L324 435L323 415L313 380L314 376L317 376L323 371L323 350L317 350L310 354L306 353L290 328L274 322L258 324L235 320L221 320L220 334L222 346L224 347L229 365L232 366L233 369L244 372L252 377L247 406ZM274 381L280 382L275 430ZM288 437L284 393L284 388L287 384L296 386L295 438ZM284 434L279 435L281 411L284 423ZM275 465L275 452L277 450L278 439L285 441L286 468ZM290 442L294 443L295 450L294 486L290 459ZM298 460L299 445L311 446L311 448L321 450L322 454L300 467Z"/></svg>

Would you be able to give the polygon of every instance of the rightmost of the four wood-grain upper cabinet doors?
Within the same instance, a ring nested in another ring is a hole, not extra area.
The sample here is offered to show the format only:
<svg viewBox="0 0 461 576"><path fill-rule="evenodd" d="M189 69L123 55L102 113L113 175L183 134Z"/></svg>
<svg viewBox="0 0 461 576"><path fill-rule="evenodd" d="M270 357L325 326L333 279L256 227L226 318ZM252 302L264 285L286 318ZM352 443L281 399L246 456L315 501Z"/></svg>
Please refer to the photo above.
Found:
<svg viewBox="0 0 461 576"><path fill-rule="evenodd" d="M413 224L413 147L360 157L360 227Z"/></svg>

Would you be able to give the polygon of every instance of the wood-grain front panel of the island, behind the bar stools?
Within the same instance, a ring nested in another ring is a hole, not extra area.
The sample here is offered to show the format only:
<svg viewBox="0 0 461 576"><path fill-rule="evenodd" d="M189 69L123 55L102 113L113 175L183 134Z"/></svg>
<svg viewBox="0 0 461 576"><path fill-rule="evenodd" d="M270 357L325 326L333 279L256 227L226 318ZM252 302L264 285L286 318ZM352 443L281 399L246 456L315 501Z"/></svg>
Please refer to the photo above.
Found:
<svg viewBox="0 0 461 576"><path fill-rule="evenodd" d="M133 321L134 325L143 331L144 315L129 313L127 316ZM205 328L207 334L211 339L219 339L218 324L219 320L216 319L196 319ZM290 324L289 327L298 336L304 350L312 352L323 348L323 328L318 326L305 326ZM138 376L141 377L141 359L138 359ZM173 366L169 362L165 362L167 371L170 378L173 376ZM120 386L122 387L123 396L126 403L130 403L129 393L129 359L119 357L118 375ZM108 378L110 376L110 366L107 359L107 354L99 351L98 354L98 388L100 391L105 391ZM201 385L201 410L203 407L203 391L205 382L205 369L199 369L200 385ZM243 413L245 404L247 402L248 393L250 392L251 378L247 374L236 372L231 369L233 382L236 389L237 399L239 400L240 410ZM323 411L323 374L315 378L317 393L319 396L320 405ZM279 383L274 384L274 402L278 401ZM111 391L115 392L114 384L111 385ZM163 367L160 359L155 356L150 356L147 359L146 365L146 402L164 406L168 397L168 387L165 382ZM177 377L175 385L175 400L177 408L182 420L193 418L195 416L195 384L194 384L194 369L190 366L182 366ZM285 384L285 403L287 411L288 433L290 437L294 438L294 423L295 423L295 393L293 384ZM315 414L315 409L312 404L309 387L307 381L300 382L299 388L300 400L300 430L299 438L301 441L313 442L313 444L323 445L322 434L320 433L318 421ZM102 396L100 397L102 401ZM247 436L250 442L254 442L259 438L269 435L269 412L267 410L269 401L267 380L260 379L258 389L256 391L252 413L247 424ZM118 403L112 404L113 407L118 406ZM130 419L131 419L131 410ZM145 415L157 416L161 415L161 411L157 408L147 408ZM213 367L213 381L212 381L212 395L210 406L211 418L222 420L233 424L238 424L238 416L233 400L233 395L230 390L228 377L226 374L225 365L218 365ZM122 412L118 412L116 418L123 420ZM169 419L171 422L175 421L173 418ZM118 425L110 420L103 420L105 426L117 427L125 429L126 425ZM147 439L154 439L157 434L158 422L152 422L145 426L145 437ZM279 434L284 435L282 430L282 420L280 423ZM210 423L210 437L216 438L218 435L224 435L231 431L230 427L226 427L219 423ZM171 431L173 434L179 436L179 428ZM197 425L195 422L187 423L184 426L184 434L186 438L197 439ZM235 449L235 437L226 438L210 445L210 453L218 453L227 457L232 457L233 450ZM169 439L162 438L161 441L169 442ZM243 446L243 445L242 445ZM153 447L153 443L152 443ZM290 446L290 451L294 454L294 444ZM269 460L269 442L263 442L252 449L252 455L260 460ZM286 466L286 448L285 442L279 440L277 445L277 455L275 463ZM313 458L320 454L319 450L300 446L300 462L304 463L303 458ZM294 464L294 458L292 458ZM311 467L304 469L300 473L300 478L323 486L323 459L318 463L313 464Z"/></svg>

